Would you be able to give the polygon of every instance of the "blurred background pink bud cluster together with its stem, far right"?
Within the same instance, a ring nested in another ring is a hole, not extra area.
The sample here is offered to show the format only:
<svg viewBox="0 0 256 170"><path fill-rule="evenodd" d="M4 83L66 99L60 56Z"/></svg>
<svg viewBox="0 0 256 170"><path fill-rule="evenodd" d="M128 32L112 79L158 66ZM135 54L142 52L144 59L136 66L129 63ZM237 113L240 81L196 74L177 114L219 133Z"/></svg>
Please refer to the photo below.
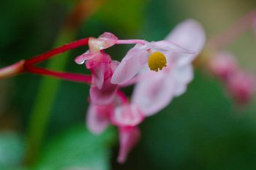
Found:
<svg viewBox="0 0 256 170"><path fill-rule="evenodd" d="M252 30L255 33L255 18L255 10L248 12L227 31L210 39L208 43L211 50L214 50L208 60L208 69L222 81L237 104L248 104L251 101L255 93L256 79L252 74L241 69L235 56L232 53L224 52L223 48L247 30Z"/></svg>

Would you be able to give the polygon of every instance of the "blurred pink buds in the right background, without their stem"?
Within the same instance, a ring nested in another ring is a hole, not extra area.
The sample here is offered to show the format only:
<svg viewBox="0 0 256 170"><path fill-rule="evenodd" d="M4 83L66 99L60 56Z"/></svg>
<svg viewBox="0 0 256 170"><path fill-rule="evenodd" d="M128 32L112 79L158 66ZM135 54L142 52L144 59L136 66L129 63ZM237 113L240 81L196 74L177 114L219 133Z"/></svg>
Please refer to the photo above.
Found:
<svg viewBox="0 0 256 170"><path fill-rule="evenodd" d="M247 104L255 92L255 77L239 68L236 58L227 52L219 52L209 62L212 74L221 80L238 104Z"/></svg>

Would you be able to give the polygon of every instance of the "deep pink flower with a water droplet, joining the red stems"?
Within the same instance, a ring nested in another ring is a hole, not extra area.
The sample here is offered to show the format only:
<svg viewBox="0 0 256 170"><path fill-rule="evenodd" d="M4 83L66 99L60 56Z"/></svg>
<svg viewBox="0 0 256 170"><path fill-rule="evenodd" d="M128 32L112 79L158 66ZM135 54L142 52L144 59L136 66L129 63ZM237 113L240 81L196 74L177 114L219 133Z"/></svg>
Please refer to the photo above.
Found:
<svg viewBox="0 0 256 170"><path fill-rule="evenodd" d="M104 50L116 44L118 38L111 33L104 33L99 38L89 38L89 52L77 58L75 62L82 64L86 61L86 68L91 70L90 96L94 104L109 104L113 100L117 85L110 83L116 61Z"/></svg>

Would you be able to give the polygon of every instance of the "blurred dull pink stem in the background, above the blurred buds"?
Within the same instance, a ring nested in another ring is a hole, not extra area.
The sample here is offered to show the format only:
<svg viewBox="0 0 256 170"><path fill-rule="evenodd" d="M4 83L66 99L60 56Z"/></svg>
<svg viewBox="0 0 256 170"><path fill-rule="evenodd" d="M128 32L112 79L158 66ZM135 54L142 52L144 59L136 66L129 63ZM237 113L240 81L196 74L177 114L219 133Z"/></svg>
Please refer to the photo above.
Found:
<svg viewBox="0 0 256 170"><path fill-rule="evenodd" d="M238 20L233 26L227 29L224 33L215 37L209 42L209 46L214 49L225 47L230 42L233 42L237 36L241 35L247 29L251 28L256 20L256 11L249 12L243 18Z"/></svg>

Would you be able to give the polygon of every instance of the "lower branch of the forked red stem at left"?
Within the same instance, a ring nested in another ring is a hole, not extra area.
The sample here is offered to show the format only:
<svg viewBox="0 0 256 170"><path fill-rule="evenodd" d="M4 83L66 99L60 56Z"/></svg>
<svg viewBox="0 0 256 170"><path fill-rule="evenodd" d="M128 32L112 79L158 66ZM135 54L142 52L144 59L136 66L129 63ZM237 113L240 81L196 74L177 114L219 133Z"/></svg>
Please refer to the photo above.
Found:
<svg viewBox="0 0 256 170"><path fill-rule="evenodd" d="M48 75L51 77L57 77L63 80L69 80L74 82L84 82L84 83L91 83L91 76L83 75L83 74L75 74L75 73L67 73L67 72L55 72L48 69L42 69L35 66L26 66L26 72L34 73L34 74L42 74Z"/></svg>

